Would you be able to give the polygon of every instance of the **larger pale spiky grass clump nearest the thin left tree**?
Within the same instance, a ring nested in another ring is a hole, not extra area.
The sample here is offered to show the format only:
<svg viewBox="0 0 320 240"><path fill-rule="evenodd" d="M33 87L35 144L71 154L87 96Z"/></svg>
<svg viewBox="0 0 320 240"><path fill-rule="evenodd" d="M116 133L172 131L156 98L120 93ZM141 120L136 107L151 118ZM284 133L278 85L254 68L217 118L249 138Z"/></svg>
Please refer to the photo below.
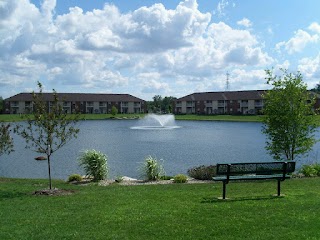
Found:
<svg viewBox="0 0 320 240"><path fill-rule="evenodd" d="M98 181L107 177L107 159L107 156L100 151L86 150L79 157L79 164L83 166L87 176L92 176L93 181Z"/></svg>

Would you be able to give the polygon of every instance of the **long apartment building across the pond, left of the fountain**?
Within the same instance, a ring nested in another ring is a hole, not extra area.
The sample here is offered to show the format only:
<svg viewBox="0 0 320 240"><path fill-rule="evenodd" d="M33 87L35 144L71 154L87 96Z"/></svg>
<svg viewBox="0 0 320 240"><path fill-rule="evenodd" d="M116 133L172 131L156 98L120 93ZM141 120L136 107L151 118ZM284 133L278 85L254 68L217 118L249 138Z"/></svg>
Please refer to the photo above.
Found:
<svg viewBox="0 0 320 240"><path fill-rule="evenodd" d="M129 94L58 93L59 103L66 113L111 113L115 106L118 113L145 113L146 101ZM48 109L53 102L52 93L43 93ZM19 93L5 99L5 113L20 114L33 111L31 93Z"/></svg>

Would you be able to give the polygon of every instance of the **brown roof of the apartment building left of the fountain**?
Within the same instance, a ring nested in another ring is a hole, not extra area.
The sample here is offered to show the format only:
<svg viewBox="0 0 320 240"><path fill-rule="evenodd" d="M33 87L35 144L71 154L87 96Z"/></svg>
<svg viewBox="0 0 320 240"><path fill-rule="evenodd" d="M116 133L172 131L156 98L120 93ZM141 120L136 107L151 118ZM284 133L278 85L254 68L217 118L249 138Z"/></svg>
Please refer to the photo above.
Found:
<svg viewBox="0 0 320 240"><path fill-rule="evenodd" d="M39 94L39 93L36 93ZM53 101L52 93L42 93L45 101ZM144 102L130 94L57 93L60 101L70 102ZM5 99L12 101L33 101L32 93L19 93Z"/></svg>

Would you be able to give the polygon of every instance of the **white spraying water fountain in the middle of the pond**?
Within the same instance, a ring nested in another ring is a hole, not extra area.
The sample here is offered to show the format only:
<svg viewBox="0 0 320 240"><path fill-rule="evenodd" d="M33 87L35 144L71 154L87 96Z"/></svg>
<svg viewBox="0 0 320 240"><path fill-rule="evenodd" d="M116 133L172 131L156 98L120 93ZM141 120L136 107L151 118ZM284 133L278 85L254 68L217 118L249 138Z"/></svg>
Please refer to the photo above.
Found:
<svg viewBox="0 0 320 240"><path fill-rule="evenodd" d="M175 124L172 114L148 114L139 120L139 126L131 127L131 129L155 130L155 129L175 129L180 128Z"/></svg>

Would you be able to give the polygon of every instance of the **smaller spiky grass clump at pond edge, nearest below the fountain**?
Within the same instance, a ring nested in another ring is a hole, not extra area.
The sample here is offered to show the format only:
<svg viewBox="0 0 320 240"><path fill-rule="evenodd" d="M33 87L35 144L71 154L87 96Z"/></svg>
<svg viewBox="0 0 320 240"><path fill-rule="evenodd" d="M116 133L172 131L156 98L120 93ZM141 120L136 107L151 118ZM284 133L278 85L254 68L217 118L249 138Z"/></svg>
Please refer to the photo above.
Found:
<svg viewBox="0 0 320 240"><path fill-rule="evenodd" d="M146 180L155 181L164 175L164 168L155 157L147 156L142 164L141 172Z"/></svg>

